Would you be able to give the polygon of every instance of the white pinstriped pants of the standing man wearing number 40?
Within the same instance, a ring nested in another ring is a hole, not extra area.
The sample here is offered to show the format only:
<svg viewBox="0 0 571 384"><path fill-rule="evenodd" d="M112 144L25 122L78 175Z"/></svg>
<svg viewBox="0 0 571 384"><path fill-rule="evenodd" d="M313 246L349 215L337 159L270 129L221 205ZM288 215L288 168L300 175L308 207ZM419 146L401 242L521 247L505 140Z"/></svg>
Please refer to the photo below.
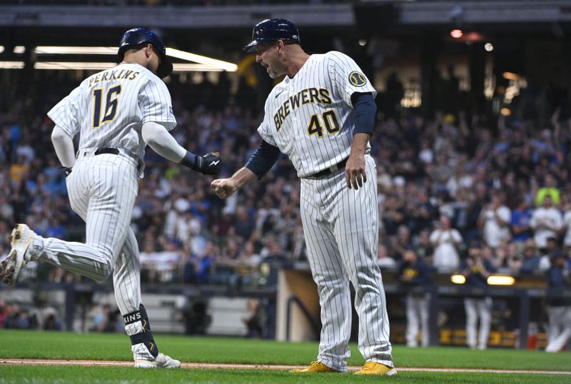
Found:
<svg viewBox="0 0 571 384"><path fill-rule="evenodd" d="M345 172L301 179L301 218L308 261L318 286L321 335L318 360L347 371L351 329L349 282L359 315L359 350L367 361L393 367L385 289L376 263L377 173L365 155L367 182L348 189Z"/></svg>

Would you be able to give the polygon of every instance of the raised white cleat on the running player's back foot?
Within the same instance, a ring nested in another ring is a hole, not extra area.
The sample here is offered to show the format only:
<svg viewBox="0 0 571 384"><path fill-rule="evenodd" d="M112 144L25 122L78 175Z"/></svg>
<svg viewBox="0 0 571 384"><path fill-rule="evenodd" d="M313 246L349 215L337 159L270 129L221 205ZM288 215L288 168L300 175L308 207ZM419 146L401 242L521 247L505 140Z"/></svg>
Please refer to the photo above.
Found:
<svg viewBox="0 0 571 384"><path fill-rule="evenodd" d="M2 282L13 285L20 274L20 271L30 261L26 257L26 251L34 240L36 233L26 224L16 224L10 235L11 250L8 257L2 261L0 277Z"/></svg>

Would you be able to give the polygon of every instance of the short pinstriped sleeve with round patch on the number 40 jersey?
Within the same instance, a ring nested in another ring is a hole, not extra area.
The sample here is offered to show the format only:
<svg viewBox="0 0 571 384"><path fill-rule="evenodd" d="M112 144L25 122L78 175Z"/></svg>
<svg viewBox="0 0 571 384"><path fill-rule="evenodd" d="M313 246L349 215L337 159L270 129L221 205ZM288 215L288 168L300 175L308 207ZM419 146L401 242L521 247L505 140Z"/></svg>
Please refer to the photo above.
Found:
<svg viewBox="0 0 571 384"><path fill-rule="evenodd" d="M328 52L327 56L333 86L348 105L352 105L351 95L355 92L370 92L373 97L377 96L373 84L353 59L337 51Z"/></svg>

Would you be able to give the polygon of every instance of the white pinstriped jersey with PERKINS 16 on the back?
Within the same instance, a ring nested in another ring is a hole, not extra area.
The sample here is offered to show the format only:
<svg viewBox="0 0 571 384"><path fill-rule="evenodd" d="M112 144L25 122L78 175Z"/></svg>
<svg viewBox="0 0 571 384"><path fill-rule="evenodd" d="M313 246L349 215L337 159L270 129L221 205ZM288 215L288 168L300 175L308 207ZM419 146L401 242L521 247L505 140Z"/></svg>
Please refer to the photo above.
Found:
<svg viewBox="0 0 571 384"><path fill-rule="evenodd" d="M143 158L141 127L176 126L171 94L151 71L133 63L89 76L61 100L48 116L73 137L81 132L79 149L124 148Z"/></svg>

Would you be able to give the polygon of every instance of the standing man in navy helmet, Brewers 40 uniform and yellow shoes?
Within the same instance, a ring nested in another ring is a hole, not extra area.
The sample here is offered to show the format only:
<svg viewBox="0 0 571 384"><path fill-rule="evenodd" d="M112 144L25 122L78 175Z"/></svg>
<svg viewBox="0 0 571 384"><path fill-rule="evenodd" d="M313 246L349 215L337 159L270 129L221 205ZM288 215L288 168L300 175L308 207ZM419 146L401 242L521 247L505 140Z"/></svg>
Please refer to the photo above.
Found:
<svg viewBox="0 0 571 384"><path fill-rule="evenodd" d="M366 360L357 373L394 375L385 292L375 262L377 173L368 143L375 89L345 54L306 54L298 29L284 19L256 24L244 50L256 52L271 78L286 76L266 100L256 152L231 178L211 186L227 198L268 172L280 152L301 178L300 211L323 326L317 361L294 372L347 371L353 283L359 350Z"/></svg>

